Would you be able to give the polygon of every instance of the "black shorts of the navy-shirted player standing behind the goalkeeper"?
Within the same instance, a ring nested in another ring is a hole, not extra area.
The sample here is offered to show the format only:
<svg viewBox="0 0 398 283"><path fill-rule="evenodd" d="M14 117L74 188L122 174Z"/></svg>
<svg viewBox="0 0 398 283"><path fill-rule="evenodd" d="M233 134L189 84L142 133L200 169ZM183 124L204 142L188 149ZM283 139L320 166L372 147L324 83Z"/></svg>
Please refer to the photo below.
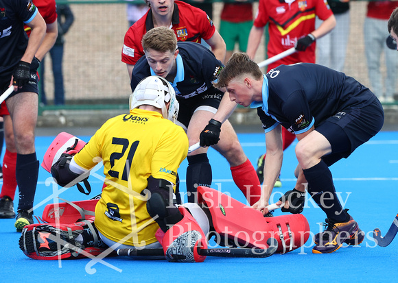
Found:
<svg viewBox="0 0 398 283"><path fill-rule="evenodd" d="M180 103L180 111L178 112L177 121L188 128L189 121L196 110L207 110L209 112L217 112L218 106L222 99L220 93L203 93L187 99L177 97Z"/></svg>

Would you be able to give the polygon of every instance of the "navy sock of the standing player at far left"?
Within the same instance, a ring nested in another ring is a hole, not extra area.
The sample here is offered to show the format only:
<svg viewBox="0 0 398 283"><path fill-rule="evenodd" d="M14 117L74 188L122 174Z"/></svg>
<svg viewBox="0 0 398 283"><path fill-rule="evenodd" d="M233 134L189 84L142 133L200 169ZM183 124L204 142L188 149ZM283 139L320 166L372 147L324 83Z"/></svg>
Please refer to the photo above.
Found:
<svg viewBox="0 0 398 283"><path fill-rule="evenodd" d="M18 210L33 208L34 194L38 179L39 162L36 152L30 154L16 154L16 183L19 188Z"/></svg>

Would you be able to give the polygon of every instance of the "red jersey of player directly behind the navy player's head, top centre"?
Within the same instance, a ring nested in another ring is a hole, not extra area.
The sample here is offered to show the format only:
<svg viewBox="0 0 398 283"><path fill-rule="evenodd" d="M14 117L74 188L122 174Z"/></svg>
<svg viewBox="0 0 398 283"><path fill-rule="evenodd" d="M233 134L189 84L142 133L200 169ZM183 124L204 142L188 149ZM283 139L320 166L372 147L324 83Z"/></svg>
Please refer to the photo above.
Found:
<svg viewBox="0 0 398 283"><path fill-rule="evenodd" d="M143 48L141 40L143 35L154 27L152 10L132 25L124 36L121 62L134 65L141 58ZM182 1L174 1L172 27L178 41L201 42L201 39L209 39L215 32L213 21L207 14Z"/></svg>

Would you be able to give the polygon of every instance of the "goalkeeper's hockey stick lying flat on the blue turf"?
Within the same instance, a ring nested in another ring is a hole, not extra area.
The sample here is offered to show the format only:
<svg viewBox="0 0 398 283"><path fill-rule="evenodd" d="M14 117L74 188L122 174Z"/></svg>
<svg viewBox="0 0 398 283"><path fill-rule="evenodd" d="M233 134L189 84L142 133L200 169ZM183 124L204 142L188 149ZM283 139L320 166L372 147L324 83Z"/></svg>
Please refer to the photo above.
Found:
<svg viewBox="0 0 398 283"><path fill-rule="evenodd" d="M200 256L218 256L223 258L267 258L277 251L278 241L275 238L269 238L267 241L267 249L256 248L220 248L220 249L202 249L198 247L198 254ZM118 256L164 256L163 249L118 249Z"/></svg>

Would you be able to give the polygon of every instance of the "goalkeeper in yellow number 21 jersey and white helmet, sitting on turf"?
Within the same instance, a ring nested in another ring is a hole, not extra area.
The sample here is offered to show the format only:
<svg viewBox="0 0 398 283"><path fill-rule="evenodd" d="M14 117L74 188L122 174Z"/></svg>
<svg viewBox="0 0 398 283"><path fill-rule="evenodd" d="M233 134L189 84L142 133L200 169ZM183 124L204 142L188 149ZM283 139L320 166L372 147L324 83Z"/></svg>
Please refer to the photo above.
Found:
<svg viewBox="0 0 398 283"><path fill-rule="evenodd" d="M191 249L201 242L205 247L202 230L173 201L177 169L188 151L187 135L174 124L178 109L172 86L161 77L147 77L130 96L130 113L109 119L75 156L63 153L51 167L60 186L79 182L103 161L106 186L95 206L94 225L82 225L82 221L27 225L20 239L25 254L36 259L56 259L57 251L62 258L78 256L70 245L64 244L62 250L58 245L41 245L44 238L51 243L51 236L60 236L91 254L89 247L163 247L169 261L204 260ZM180 234L193 235L194 241L170 251L169 246L180 236L172 229L176 223L191 227ZM165 232L161 243L155 236L159 227Z"/></svg>

